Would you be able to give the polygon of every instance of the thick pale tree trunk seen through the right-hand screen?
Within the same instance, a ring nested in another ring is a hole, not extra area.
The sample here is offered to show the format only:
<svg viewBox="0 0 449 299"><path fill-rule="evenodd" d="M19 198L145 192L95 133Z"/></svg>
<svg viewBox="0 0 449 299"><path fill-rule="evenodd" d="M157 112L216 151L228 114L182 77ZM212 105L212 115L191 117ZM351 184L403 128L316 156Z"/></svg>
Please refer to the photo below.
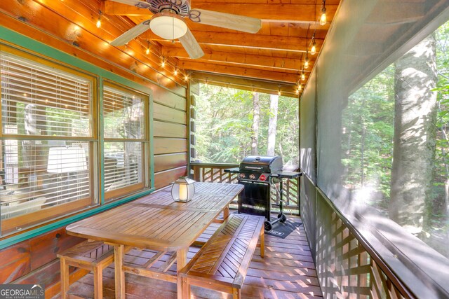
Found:
<svg viewBox="0 0 449 299"><path fill-rule="evenodd" d="M436 143L436 50L428 36L396 62L390 218L412 233L427 221Z"/></svg>

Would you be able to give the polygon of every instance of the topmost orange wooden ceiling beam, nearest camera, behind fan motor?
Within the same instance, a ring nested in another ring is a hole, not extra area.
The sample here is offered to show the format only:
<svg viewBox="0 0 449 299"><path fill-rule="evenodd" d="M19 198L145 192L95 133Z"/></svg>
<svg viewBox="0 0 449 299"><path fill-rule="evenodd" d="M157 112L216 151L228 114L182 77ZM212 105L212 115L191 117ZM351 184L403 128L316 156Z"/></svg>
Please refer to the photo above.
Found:
<svg viewBox="0 0 449 299"><path fill-rule="evenodd" d="M218 11L221 13L232 13L235 15L246 15L247 17L269 20L270 22L317 22L321 3L315 4L245 4L245 3L223 3L223 2L196 2L192 9L200 8L208 11ZM337 11L337 5L326 4L328 22L332 22L333 15ZM108 15L149 15L152 13L148 9L136 8L127 4L120 4L113 1L105 1L103 13Z"/></svg>

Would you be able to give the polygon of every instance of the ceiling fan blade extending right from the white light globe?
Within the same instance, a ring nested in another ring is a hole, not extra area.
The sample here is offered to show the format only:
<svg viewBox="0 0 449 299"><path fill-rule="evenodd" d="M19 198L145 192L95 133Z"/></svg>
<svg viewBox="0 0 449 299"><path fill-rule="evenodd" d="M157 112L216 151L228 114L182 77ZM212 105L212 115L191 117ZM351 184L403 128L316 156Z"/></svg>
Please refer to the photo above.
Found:
<svg viewBox="0 0 449 299"><path fill-rule="evenodd" d="M200 13L199 22L201 24L249 33L257 33L262 27L262 21L256 18L232 15L230 13L218 13L217 11L205 11L203 9L194 9L191 12L194 13L195 11ZM195 14L192 15L195 16Z"/></svg>

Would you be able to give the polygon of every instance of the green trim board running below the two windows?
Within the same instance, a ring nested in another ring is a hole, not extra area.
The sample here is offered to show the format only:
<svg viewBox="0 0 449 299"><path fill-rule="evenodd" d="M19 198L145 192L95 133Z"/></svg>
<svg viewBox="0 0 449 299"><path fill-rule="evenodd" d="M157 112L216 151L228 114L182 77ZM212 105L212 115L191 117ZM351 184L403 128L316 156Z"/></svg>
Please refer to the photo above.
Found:
<svg viewBox="0 0 449 299"><path fill-rule="evenodd" d="M76 221L79 221L83 218L87 218L88 216L92 216L94 214L98 214L102 211L106 211L108 209L112 209L120 204L124 204L126 202L130 202L132 200L137 199L138 197L142 197L145 195L149 195L152 193L155 189L150 188L148 190L145 190L144 192L136 193L130 197L123 198L121 200L116 200L114 202L98 206L95 209L90 209L88 211L81 212L80 214L76 214L74 216L69 216L67 218L63 218L59 221L55 221L53 223L49 223L47 225L43 225L40 228L35 228L33 230L28 230L27 232L23 232L19 235L14 235L12 237L6 237L5 239L0 240L0 249L4 249L8 246L12 246L14 244L17 244L19 242L25 241L27 239L31 239L32 237L36 237L38 235L42 235L45 232L49 232L51 230L54 230L56 228L61 228L62 226L68 225L70 223L74 223Z"/></svg>

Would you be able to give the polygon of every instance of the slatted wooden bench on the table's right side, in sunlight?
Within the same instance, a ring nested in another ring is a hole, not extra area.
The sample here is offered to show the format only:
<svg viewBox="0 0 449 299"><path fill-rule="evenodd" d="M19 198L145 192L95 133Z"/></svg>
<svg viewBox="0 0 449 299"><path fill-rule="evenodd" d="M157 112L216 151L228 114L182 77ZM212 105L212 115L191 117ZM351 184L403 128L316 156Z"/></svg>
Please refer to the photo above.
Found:
<svg viewBox="0 0 449 299"><path fill-rule="evenodd" d="M194 285L241 298L241 286L259 238L260 256L264 256L264 220L261 216L229 216L178 274L180 297L190 298L190 286Z"/></svg>

